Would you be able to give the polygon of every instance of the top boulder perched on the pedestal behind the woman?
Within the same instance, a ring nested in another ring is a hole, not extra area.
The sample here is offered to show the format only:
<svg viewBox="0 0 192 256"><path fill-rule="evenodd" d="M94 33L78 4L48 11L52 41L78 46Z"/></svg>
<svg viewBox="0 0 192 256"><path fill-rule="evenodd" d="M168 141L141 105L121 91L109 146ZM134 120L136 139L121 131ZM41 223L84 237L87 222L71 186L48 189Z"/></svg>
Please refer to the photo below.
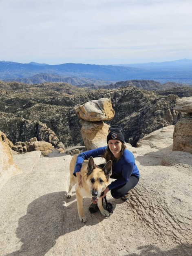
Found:
<svg viewBox="0 0 192 256"><path fill-rule="evenodd" d="M80 119L85 121L111 120L115 115L110 99L102 98L75 106L75 112Z"/></svg>

